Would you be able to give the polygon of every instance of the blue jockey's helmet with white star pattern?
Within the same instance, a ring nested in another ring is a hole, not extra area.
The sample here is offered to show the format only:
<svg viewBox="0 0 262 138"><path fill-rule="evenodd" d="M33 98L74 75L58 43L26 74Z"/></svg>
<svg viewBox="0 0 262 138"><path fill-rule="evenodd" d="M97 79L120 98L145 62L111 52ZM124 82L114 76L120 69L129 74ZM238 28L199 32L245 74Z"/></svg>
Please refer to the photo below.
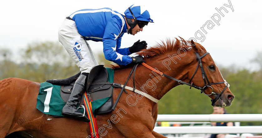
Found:
<svg viewBox="0 0 262 138"><path fill-rule="evenodd" d="M132 34L131 31L137 24L140 28L143 28L145 25L148 25L148 22L153 22L150 18L149 12L142 5L133 4L124 12L124 14L126 16L126 21L130 26L128 34ZM132 22L132 19L135 21Z"/></svg>

